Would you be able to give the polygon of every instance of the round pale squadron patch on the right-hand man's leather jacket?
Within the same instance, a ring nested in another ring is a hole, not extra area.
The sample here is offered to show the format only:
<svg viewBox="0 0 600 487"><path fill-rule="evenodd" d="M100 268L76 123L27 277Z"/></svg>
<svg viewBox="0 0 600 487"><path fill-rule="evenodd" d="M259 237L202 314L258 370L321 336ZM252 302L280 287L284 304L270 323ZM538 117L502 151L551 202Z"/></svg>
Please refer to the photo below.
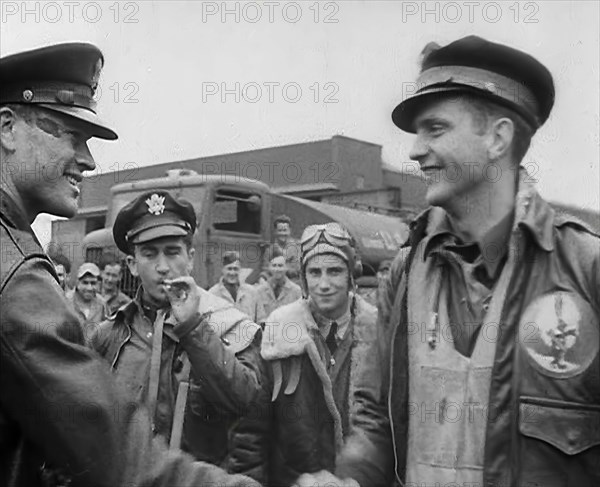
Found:
<svg viewBox="0 0 600 487"><path fill-rule="evenodd" d="M598 324L590 304L577 294L545 294L525 310L519 341L539 372L569 378L585 371L598 355Z"/></svg>

